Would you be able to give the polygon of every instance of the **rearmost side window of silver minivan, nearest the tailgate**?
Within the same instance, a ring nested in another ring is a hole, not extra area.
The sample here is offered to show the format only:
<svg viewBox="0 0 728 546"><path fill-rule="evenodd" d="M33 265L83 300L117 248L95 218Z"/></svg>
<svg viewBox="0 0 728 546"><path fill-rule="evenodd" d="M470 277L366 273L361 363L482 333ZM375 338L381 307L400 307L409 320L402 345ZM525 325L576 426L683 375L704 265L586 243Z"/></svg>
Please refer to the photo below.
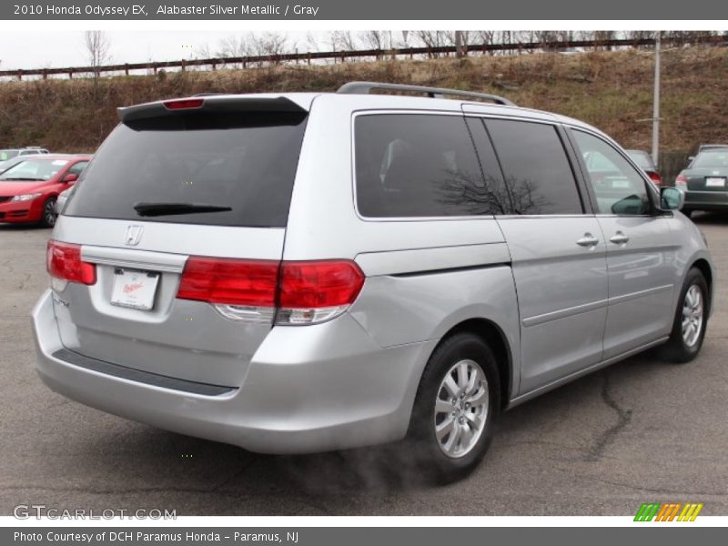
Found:
<svg viewBox="0 0 728 546"><path fill-rule="evenodd" d="M365 217L501 214L462 116L373 114L354 126L356 192Z"/></svg>

